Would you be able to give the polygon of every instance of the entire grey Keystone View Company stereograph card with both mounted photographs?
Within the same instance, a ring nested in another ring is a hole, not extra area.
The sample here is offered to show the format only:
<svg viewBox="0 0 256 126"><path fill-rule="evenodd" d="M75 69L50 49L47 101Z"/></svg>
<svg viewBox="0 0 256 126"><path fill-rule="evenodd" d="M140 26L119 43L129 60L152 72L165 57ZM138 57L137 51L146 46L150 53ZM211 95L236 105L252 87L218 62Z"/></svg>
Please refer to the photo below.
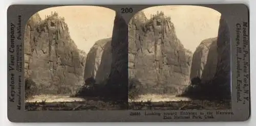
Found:
<svg viewBox="0 0 256 126"><path fill-rule="evenodd" d="M10 5L10 122L250 118L246 4Z"/></svg>

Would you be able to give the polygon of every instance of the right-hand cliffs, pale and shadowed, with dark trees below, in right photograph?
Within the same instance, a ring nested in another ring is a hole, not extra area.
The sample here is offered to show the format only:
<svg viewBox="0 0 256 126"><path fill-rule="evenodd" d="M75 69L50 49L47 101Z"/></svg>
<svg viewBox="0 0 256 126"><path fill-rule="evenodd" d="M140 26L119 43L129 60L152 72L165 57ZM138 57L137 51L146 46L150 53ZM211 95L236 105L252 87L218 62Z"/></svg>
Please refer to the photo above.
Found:
<svg viewBox="0 0 256 126"><path fill-rule="evenodd" d="M190 77L196 76L199 79L192 80L186 96L230 100L230 34L223 17L217 39L203 41L194 53Z"/></svg>

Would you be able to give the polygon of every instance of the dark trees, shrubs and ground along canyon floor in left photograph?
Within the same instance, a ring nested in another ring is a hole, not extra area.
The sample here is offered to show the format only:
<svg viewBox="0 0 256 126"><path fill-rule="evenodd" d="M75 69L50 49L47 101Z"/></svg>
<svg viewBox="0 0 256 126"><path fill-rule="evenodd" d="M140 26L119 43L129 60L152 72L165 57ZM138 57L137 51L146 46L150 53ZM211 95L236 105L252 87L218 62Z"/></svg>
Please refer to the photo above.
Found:
<svg viewBox="0 0 256 126"><path fill-rule="evenodd" d="M76 94L70 97L80 97L83 101L74 102L46 102L46 100L37 102L26 102L26 110L123 110L127 109L127 98L116 95L113 87L110 85L95 84L88 87L91 83L95 83L93 78L85 81L83 87ZM32 80L26 80L26 99L33 97L36 93L36 85ZM33 87L33 88L32 88ZM124 94L127 96L127 94Z"/></svg>

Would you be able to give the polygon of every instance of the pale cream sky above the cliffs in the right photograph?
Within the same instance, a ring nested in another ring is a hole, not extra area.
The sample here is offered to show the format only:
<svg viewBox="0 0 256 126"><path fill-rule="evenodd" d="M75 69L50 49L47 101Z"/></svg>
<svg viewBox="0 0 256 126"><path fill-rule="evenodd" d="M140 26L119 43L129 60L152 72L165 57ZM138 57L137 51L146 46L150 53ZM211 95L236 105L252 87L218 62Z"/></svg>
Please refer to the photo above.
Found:
<svg viewBox="0 0 256 126"><path fill-rule="evenodd" d="M174 23L176 35L185 48L195 52L202 40L218 36L221 13L200 6L156 6L143 10L147 18L163 11Z"/></svg>

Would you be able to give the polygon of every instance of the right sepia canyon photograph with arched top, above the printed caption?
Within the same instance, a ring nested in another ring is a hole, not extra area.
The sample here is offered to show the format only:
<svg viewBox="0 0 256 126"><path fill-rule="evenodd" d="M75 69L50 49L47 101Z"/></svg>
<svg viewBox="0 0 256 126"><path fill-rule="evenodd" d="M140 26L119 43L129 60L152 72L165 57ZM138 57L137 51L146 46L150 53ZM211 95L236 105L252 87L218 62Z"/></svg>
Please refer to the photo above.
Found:
<svg viewBox="0 0 256 126"><path fill-rule="evenodd" d="M221 13L155 6L128 28L130 110L231 108L230 35Z"/></svg>

